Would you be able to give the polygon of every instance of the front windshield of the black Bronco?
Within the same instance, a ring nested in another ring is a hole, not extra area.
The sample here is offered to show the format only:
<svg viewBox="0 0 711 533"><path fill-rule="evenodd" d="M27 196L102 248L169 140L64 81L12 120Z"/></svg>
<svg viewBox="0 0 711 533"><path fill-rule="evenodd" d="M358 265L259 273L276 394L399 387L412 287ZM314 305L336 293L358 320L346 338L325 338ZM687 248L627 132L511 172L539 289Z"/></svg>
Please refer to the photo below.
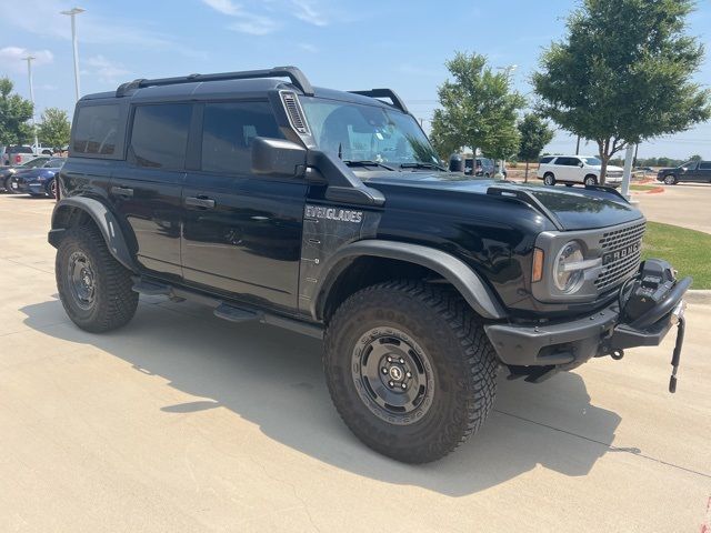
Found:
<svg viewBox="0 0 711 533"><path fill-rule="evenodd" d="M302 97L313 138L343 161L440 164L415 120L400 111Z"/></svg>

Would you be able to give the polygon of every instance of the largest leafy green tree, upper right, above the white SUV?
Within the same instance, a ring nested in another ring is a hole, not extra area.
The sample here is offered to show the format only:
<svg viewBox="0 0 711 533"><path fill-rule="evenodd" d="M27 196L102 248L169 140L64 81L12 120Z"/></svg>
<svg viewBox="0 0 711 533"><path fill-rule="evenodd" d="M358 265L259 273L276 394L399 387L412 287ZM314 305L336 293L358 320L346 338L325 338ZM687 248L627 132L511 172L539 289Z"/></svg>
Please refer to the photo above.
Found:
<svg viewBox="0 0 711 533"><path fill-rule="evenodd" d="M688 130L711 117L709 90L691 77L703 47L685 36L694 0L583 0L568 36L543 52L532 82L540 111L598 144L601 182L629 144Z"/></svg>

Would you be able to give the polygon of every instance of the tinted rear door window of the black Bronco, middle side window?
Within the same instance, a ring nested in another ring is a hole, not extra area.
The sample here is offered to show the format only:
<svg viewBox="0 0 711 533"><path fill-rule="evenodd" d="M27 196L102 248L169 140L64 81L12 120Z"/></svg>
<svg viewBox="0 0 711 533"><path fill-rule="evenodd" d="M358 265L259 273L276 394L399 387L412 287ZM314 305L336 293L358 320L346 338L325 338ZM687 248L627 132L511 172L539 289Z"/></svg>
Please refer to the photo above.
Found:
<svg viewBox="0 0 711 533"><path fill-rule="evenodd" d="M182 169L191 117L191 103L137 107L129 161L152 169Z"/></svg>

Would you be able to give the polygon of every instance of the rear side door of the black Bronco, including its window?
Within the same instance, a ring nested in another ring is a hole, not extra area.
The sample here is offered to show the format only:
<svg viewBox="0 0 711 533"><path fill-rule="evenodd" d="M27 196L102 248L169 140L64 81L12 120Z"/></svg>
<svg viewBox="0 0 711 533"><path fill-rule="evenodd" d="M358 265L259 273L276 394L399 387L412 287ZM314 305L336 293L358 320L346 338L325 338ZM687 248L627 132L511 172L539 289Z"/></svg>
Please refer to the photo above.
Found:
<svg viewBox="0 0 711 533"><path fill-rule="evenodd" d="M181 192L192 103L133 108L127 161L114 167L109 198L132 230L138 262L149 273L180 280Z"/></svg>

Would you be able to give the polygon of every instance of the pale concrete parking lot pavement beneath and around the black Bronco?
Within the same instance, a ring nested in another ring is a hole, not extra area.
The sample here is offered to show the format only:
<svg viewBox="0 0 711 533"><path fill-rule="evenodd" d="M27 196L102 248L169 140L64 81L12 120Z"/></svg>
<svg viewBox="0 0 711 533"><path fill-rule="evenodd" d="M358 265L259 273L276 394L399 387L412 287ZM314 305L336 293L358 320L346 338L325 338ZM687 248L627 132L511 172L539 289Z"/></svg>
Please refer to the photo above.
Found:
<svg viewBox="0 0 711 533"><path fill-rule="evenodd" d="M78 330L57 300L51 208L0 197L0 531L698 532L708 520L711 306L689 308L675 395L671 338L539 385L501 380L474 440L409 466L341 423L318 341L160 299L120 331Z"/></svg>

